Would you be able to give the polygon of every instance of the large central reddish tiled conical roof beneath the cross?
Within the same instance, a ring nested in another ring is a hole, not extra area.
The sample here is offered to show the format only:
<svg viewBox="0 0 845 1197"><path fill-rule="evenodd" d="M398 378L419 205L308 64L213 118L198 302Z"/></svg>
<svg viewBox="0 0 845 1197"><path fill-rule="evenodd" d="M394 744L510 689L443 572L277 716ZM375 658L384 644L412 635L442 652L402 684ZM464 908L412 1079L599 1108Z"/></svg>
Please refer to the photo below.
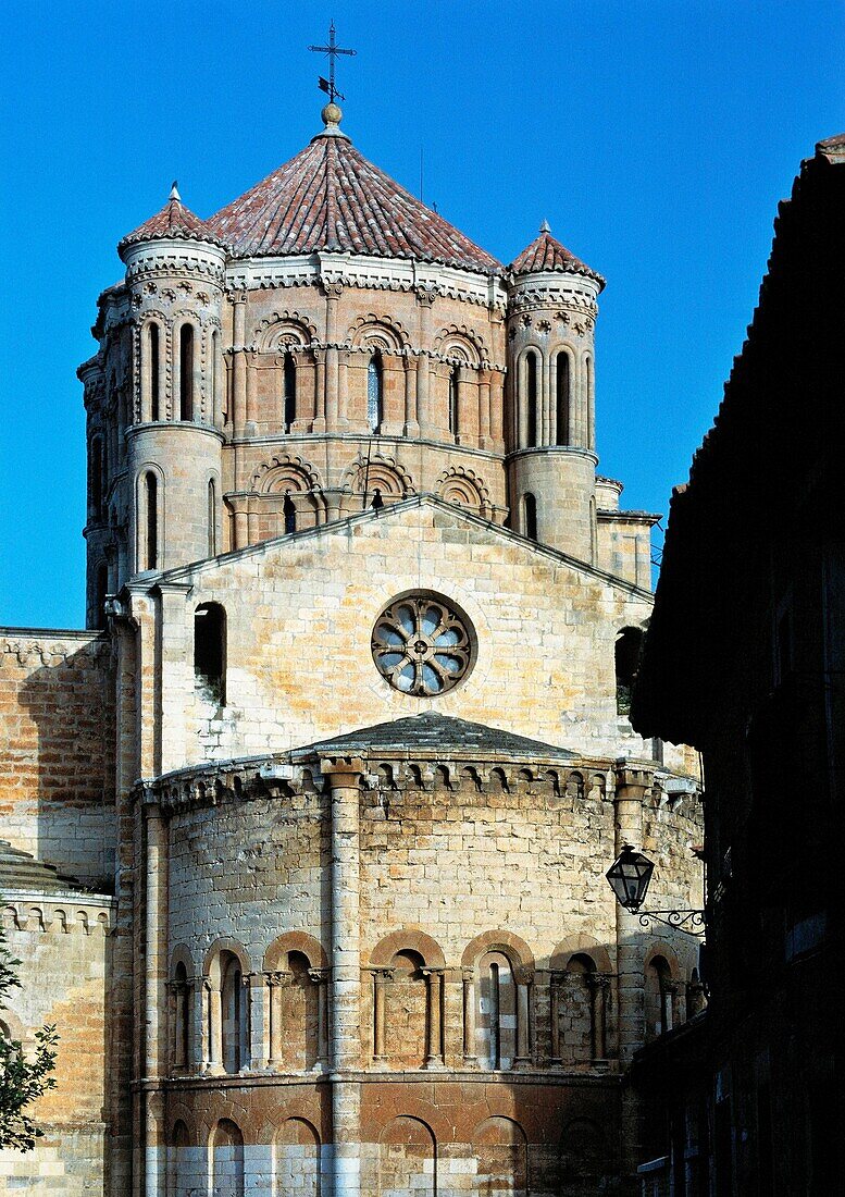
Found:
<svg viewBox="0 0 845 1197"><path fill-rule="evenodd" d="M501 263L360 154L330 126L208 220L238 257L316 249L412 257L469 271Z"/></svg>

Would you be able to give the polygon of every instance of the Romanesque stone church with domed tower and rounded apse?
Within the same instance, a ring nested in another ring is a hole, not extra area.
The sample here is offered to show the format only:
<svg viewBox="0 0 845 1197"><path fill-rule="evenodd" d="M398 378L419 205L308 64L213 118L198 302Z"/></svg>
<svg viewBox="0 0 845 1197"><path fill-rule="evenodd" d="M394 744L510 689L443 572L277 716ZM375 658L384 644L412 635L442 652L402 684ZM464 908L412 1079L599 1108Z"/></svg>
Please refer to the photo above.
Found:
<svg viewBox="0 0 845 1197"><path fill-rule="evenodd" d="M631 1192L627 1068L704 1003L604 879L703 903L697 757L627 713L604 280L322 124L208 219L174 186L98 299L86 628L0 630L0 1019L61 1037L0 1191Z"/></svg>

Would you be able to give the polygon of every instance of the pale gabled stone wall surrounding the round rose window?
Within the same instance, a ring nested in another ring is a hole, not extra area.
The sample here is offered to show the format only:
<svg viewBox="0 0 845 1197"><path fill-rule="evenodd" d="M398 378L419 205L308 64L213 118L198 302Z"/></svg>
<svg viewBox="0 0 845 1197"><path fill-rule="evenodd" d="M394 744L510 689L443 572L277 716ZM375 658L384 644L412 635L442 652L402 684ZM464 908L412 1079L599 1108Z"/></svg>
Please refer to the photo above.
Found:
<svg viewBox="0 0 845 1197"><path fill-rule="evenodd" d="M193 589L181 625L163 630L168 692L186 699L169 707L165 771L425 710L431 700L391 689L370 651L382 608L418 588L461 606L478 637L473 673L439 711L588 754L620 751L614 643L648 618L648 596L457 511L424 500L172 577ZM207 704L190 701L194 610L209 601L226 610L227 654L226 707L212 723ZM648 758L651 746L630 737L625 752Z"/></svg>

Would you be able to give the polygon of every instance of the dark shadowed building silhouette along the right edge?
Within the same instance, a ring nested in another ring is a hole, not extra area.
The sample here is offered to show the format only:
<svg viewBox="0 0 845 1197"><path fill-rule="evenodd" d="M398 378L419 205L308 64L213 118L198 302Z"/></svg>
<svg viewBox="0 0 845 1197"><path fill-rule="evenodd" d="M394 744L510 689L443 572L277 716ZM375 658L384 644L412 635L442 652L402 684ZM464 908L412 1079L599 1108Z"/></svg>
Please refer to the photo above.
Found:
<svg viewBox="0 0 845 1197"><path fill-rule="evenodd" d="M845 136L780 203L715 426L675 491L634 688L705 777L710 1003L638 1057L643 1192L840 1191Z"/></svg>

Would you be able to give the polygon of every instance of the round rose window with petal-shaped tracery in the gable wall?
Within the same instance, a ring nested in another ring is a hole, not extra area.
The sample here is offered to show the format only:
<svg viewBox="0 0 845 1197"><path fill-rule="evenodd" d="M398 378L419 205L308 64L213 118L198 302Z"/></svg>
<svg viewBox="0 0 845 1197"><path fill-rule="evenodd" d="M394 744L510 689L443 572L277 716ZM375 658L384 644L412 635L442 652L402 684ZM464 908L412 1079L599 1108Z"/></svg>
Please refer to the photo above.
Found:
<svg viewBox="0 0 845 1197"><path fill-rule="evenodd" d="M469 621L432 595L397 598L376 620L372 657L394 689L445 694L473 663Z"/></svg>

